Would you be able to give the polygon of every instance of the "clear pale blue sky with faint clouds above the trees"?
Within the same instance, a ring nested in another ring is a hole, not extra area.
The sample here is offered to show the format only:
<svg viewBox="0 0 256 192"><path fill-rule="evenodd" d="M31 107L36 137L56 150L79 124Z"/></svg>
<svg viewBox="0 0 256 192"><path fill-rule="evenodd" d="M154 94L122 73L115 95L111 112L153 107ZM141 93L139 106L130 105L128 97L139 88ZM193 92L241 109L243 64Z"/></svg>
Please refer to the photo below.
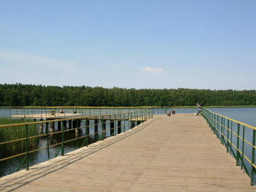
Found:
<svg viewBox="0 0 256 192"><path fill-rule="evenodd" d="M256 89L255 0L0 0L0 84Z"/></svg>

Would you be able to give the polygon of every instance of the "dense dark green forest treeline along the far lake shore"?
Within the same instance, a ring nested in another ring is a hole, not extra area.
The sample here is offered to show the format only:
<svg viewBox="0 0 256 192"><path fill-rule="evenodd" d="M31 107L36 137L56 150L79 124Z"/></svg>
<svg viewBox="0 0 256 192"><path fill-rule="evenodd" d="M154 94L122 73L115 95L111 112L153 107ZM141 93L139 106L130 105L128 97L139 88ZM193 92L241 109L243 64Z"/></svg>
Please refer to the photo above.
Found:
<svg viewBox="0 0 256 192"><path fill-rule="evenodd" d="M208 98L205 100L206 97ZM194 106L197 102L203 102L204 106L256 105L256 90L126 89L0 84L0 106L3 107Z"/></svg>

